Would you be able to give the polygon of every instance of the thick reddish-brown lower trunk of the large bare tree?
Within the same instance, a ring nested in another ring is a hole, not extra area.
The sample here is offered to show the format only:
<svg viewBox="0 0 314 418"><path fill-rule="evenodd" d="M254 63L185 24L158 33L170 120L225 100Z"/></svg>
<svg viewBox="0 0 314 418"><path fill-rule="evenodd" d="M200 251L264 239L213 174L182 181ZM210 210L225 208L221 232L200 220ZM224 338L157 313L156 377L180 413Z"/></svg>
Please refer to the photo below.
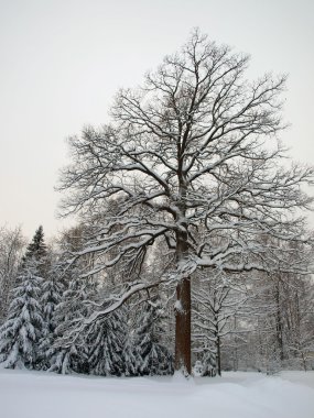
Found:
<svg viewBox="0 0 314 418"><path fill-rule="evenodd" d="M191 374L191 280L183 278L176 286L175 370Z"/></svg>

